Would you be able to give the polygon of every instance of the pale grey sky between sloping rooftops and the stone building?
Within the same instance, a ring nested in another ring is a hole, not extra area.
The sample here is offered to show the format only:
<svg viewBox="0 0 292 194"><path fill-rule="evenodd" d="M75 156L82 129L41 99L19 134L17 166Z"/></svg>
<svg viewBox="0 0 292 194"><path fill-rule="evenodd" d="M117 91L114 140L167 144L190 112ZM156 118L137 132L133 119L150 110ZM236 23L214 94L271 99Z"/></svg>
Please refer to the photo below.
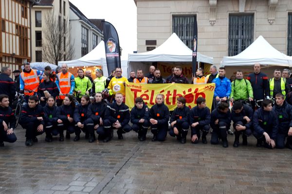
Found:
<svg viewBox="0 0 292 194"><path fill-rule="evenodd" d="M137 50L137 7L134 0L70 0L87 18L105 19L118 32L122 59ZM80 32L81 33L81 32Z"/></svg>

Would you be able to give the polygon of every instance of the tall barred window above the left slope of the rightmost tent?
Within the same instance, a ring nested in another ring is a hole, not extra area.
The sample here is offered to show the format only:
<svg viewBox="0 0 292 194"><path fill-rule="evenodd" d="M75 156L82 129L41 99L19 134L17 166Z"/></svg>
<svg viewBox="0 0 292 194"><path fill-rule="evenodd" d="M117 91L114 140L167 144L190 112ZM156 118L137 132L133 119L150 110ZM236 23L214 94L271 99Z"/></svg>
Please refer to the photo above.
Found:
<svg viewBox="0 0 292 194"><path fill-rule="evenodd" d="M242 52L254 41L254 15L229 15L228 56Z"/></svg>

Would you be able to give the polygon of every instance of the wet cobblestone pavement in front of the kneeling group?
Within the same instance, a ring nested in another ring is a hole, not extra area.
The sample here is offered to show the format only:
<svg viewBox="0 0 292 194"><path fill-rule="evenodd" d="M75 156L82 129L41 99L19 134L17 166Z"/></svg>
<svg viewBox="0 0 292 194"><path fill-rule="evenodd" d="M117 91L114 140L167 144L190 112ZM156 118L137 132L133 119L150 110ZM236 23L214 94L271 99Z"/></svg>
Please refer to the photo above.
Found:
<svg viewBox="0 0 292 194"><path fill-rule="evenodd" d="M0 194L274 194L292 193L292 150L248 146L139 142L135 132L109 143L52 143L38 136L32 147L18 141L0 147Z"/></svg>

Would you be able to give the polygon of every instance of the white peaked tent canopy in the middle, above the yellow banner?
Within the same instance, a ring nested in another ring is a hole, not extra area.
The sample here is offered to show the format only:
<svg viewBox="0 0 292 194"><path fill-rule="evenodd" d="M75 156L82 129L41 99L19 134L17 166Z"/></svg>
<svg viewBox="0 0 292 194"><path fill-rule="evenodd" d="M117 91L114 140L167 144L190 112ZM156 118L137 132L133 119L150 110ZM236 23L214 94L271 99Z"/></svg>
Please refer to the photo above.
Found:
<svg viewBox="0 0 292 194"><path fill-rule="evenodd" d="M198 52L197 61L213 64L213 58ZM192 50L173 33L162 45L144 53L128 54L128 73L142 69L148 72L149 62L192 62Z"/></svg>

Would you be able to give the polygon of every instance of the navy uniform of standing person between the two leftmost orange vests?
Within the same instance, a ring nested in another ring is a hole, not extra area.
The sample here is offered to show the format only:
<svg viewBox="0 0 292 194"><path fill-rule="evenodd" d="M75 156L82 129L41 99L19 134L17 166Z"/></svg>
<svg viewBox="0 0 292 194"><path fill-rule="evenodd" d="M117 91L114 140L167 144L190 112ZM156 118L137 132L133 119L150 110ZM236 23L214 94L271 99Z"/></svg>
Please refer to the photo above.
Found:
<svg viewBox="0 0 292 194"><path fill-rule="evenodd" d="M43 81L39 84L38 86L38 89L37 89L37 97L40 99L41 97L44 97L45 100L42 101L40 100L40 105L41 106L45 106L46 105L46 101L47 101L47 98L45 97L45 94L44 94L44 91L48 91L49 94L56 98L57 96L59 96L60 92L59 92L59 89L56 85L55 82L53 81Z"/></svg>

